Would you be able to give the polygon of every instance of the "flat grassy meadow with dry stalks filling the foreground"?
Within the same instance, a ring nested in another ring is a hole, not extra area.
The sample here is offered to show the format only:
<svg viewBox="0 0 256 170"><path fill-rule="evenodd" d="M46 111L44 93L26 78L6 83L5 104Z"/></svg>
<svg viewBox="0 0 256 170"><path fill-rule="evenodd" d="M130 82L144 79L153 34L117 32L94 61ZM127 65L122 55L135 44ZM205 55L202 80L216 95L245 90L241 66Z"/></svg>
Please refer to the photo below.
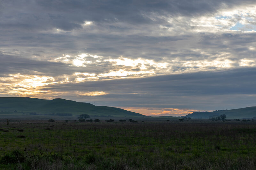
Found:
<svg viewBox="0 0 256 170"><path fill-rule="evenodd" d="M255 169L255 122L0 122L1 169Z"/></svg>

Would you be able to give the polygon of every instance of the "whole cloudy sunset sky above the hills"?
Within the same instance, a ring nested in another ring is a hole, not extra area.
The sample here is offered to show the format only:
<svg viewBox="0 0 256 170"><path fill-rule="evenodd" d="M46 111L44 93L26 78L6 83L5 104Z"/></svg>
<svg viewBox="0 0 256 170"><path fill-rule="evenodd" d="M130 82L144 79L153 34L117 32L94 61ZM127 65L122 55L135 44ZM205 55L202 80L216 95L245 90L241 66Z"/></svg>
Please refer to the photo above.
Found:
<svg viewBox="0 0 256 170"><path fill-rule="evenodd" d="M151 116L256 106L255 0L0 0L0 97Z"/></svg>

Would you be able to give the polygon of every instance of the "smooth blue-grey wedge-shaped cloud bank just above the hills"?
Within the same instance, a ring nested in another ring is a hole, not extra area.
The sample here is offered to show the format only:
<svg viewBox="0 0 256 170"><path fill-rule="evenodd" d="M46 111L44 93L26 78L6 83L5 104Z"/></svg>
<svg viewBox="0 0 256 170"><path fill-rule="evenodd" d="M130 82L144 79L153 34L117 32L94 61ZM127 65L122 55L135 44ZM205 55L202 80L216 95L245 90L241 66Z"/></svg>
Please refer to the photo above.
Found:
<svg viewBox="0 0 256 170"><path fill-rule="evenodd" d="M148 78L87 81L49 85L58 92L103 91L104 96L65 96L97 105L192 109L230 109L254 106L256 68L202 71ZM111 104L112 103L112 104Z"/></svg>

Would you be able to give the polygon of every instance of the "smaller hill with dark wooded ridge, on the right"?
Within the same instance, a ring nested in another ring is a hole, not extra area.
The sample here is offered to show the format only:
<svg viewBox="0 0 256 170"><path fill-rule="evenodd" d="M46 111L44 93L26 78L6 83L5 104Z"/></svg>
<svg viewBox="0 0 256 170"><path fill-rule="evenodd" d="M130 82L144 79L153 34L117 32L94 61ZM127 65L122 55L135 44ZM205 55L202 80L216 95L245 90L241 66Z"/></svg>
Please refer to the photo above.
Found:
<svg viewBox="0 0 256 170"><path fill-rule="evenodd" d="M215 110L213 112L194 112L192 114L186 115L186 117L194 119L209 119L211 117L217 117L222 114L225 114L227 119L253 118L256 117L256 107L245 107L232 110Z"/></svg>

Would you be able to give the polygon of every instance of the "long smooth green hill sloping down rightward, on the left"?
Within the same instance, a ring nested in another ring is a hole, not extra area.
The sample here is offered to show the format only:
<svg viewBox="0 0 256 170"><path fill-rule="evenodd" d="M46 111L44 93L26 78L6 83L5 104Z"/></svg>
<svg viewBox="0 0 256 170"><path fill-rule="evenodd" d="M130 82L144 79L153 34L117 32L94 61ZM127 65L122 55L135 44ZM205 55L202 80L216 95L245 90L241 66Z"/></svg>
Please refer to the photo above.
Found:
<svg viewBox="0 0 256 170"><path fill-rule="evenodd" d="M0 113L2 114L36 114L36 115L80 115L143 117L139 113L107 106L95 106L90 103L65 99L44 100L28 97L0 97Z"/></svg>

